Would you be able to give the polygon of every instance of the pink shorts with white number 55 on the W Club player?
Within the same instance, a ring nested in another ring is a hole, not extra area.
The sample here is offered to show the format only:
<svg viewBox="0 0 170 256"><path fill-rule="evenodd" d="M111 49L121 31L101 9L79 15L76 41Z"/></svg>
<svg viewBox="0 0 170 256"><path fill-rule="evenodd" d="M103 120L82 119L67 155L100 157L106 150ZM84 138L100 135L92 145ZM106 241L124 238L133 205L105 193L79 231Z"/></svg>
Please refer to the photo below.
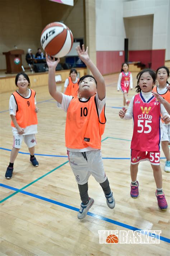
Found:
<svg viewBox="0 0 170 256"><path fill-rule="evenodd" d="M131 149L131 163L136 165L140 161L150 161L151 165L160 165L160 151L147 152Z"/></svg>

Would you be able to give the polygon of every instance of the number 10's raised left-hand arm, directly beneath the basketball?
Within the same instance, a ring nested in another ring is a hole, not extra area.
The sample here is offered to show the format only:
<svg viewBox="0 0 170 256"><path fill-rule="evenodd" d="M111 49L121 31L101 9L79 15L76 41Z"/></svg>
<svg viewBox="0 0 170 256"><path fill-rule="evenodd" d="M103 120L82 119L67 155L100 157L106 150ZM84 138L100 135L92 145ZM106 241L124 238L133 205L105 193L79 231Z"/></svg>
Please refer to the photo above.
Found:
<svg viewBox="0 0 170 256"><path fill-rule="evenodd" d="M62 93L57 91L56 80L55 80L56 67L57 67L57 64L60 62L60 59L58 58L55 61L54 57L52 59L51 56L48 56L46 54L46 61L47 61L47 65L48 65L48 90L49 90L49 93L55 100L57 100L58 103L61 104Z"/></svg>

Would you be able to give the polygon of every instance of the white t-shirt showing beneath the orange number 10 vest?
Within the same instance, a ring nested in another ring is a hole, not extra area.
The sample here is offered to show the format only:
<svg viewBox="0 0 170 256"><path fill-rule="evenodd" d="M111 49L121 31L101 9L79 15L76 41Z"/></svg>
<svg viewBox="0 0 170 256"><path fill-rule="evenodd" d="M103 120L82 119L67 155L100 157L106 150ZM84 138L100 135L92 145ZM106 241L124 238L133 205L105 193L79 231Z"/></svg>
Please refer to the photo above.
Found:
<svg viewBox="0 0 170 256"><path fill-rule="evenodd" d="M99 112L99 116L100 116L101 111L104 108L104 104L105 104L106 100L105 100L105 98L103 100L100 100L97 93L96 93L95 97L96 97L96 103L97 103L98 112ZM70 104L71 100L72 100L72 96L65 95L62 93L62 102L61 102L61 104L57 102L57 107L63 109L65 112L67 112L67 109L69 108L69 104ZM88 99L81 98L81 100L87 101ZM67 148L67 150L72 151L72 152L86 152L86 151L98 150L98 149L87 147L87 148L82 148L82 149Z"/></svg>

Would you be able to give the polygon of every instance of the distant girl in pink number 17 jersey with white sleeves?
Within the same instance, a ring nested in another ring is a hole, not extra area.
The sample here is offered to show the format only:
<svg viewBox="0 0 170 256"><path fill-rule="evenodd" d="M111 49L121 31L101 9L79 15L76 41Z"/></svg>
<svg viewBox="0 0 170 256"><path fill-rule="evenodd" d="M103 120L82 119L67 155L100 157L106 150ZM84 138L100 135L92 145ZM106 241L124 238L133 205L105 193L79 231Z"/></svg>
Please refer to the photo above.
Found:
<svg viewBox="0 0 170 256"><path fill-rule="evenodd" d="M124 62L122 64L121 73L119 74L117 90L121 90L123 93L123 110L126 109L126 105L128 106L130 101L127 99L129 87L131 90L133 89L133 80L132 74L128 71L129 65Z"/></svg>

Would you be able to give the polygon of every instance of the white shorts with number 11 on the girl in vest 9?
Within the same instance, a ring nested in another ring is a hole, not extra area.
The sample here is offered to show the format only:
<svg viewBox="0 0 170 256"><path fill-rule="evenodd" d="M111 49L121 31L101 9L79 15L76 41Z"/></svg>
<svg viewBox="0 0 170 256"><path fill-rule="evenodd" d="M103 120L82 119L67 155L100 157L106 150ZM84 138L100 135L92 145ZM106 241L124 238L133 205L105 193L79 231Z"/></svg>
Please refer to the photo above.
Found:
<svg viewBox="0 0 170 256"><path fill-rule="evenodd" d="M28 148L32 148L37 144L35 134L16 135L14 136L13 148L21 148L23 139L25 144L27 144Z"/></svg>

